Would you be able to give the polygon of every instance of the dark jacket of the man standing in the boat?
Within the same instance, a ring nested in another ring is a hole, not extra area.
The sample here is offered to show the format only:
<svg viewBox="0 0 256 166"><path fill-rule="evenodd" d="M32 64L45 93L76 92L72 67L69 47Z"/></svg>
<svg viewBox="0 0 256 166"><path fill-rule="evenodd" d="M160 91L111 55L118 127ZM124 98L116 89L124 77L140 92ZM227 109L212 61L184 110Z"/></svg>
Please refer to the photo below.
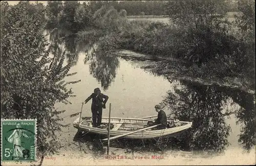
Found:
<svg viewBox="0 0 256 166"><path fill-rule="evenodd" d="M99 93L99 96L98 98L97 97L97 94L96 93L92 93L91 96L89 96L85 102L87 103L89 100L93 99L93 102L92 102L92 109L95 107L95 106L99 106L99 107L103 107L103 108L106 108L105 104L106 102L108 101L109 97L102 94L102 93ZM105 99L105 100L103 100ZM101 103L104 103L103 105Z"/></svg>

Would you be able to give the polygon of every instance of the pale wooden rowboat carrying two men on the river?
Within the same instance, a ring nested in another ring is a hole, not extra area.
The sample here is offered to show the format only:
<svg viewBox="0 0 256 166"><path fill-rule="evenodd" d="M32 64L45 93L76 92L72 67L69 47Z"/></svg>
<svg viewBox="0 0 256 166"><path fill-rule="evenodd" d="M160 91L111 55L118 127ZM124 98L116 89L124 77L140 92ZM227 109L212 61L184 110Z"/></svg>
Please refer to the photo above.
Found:
<svg viewBox="0 0 256 166"><path fill-rule="evenodd" d="M153 117L153 116L151 116ZM80 123L79 123L80 121ZM110 123L110 136L118 136L125 133L129 133L132 131L140 130L147 127L147 122L152 121L150 119L145 118L124 118L124 117L111 117ZM184 121L174 121L167 120L167 123L174 122L175 127L166 128L162 130L158 129L148 129L140 132L136 132L133 134L125 135L123 138L131 138L131 139L150 139L150 138L158 138L163 136L176 136L181 132L187 130L191 127L192 122L184 122ZM77 118L73 126L77 128L79 131L83 131L86 133L93 134L101 134L103 136L108 135L108 126L109 126L109 117L102 117L101 126L92 127L92 117L80 117Z"/></svg>

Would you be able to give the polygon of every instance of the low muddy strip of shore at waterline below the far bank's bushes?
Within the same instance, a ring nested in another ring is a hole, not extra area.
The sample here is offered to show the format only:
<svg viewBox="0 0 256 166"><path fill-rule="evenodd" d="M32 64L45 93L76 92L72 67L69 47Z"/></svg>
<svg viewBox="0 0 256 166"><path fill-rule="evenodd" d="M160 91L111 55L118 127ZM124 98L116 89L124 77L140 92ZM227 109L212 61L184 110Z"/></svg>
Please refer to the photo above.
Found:
<svg viewBox="0 0 256 166"><path fill-rule="evenodd" d="M239 78L225 77L218 79L216 77L204 77L207 73L203 69L199 69L197 66L187 67L186 62L180 59L163 57L163 56L150 56L126 50L120 50L115 53L117 56L130 61L139 61L141 68L150 70L158 75L165 76L168 80L179 79L179 80L191 80L204 85L219 85L227 86L231 88L239 88L248 93L254 94L255 91L248 89L248 82ZM195 68L193 68L195 67ZM198 73L195 69L201 70L202 73ZM197 73L195 75L193 72ZM200 75L199 75L200 74Z"/></svg>

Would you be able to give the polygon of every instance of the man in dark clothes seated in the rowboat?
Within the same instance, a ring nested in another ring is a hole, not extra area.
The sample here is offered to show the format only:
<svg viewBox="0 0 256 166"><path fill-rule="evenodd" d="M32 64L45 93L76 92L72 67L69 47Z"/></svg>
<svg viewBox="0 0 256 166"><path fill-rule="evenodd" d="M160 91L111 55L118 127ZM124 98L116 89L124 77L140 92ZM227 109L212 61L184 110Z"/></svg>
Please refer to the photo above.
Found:
<svg viewBox="0 0 256 166"><path fill-rule="evenodd" d="M158 129L165 129L167 126L167 117L165 112L161 109L160 105L155 106L156 111L158 112L157 119L153 121L154 125L162 124L158 126Z"/></svg>

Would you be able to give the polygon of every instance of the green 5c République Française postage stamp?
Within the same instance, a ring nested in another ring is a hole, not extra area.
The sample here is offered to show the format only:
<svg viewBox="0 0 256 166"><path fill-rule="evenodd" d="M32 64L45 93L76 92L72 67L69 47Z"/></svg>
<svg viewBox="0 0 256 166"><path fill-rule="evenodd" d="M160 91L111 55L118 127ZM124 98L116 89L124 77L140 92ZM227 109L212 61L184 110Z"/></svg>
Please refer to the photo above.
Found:
<svg viewBox="0 0 256 166"><path fill-rule="evenodd" d="M1 160L36 161L36 120L1 119Z"/></svg>

